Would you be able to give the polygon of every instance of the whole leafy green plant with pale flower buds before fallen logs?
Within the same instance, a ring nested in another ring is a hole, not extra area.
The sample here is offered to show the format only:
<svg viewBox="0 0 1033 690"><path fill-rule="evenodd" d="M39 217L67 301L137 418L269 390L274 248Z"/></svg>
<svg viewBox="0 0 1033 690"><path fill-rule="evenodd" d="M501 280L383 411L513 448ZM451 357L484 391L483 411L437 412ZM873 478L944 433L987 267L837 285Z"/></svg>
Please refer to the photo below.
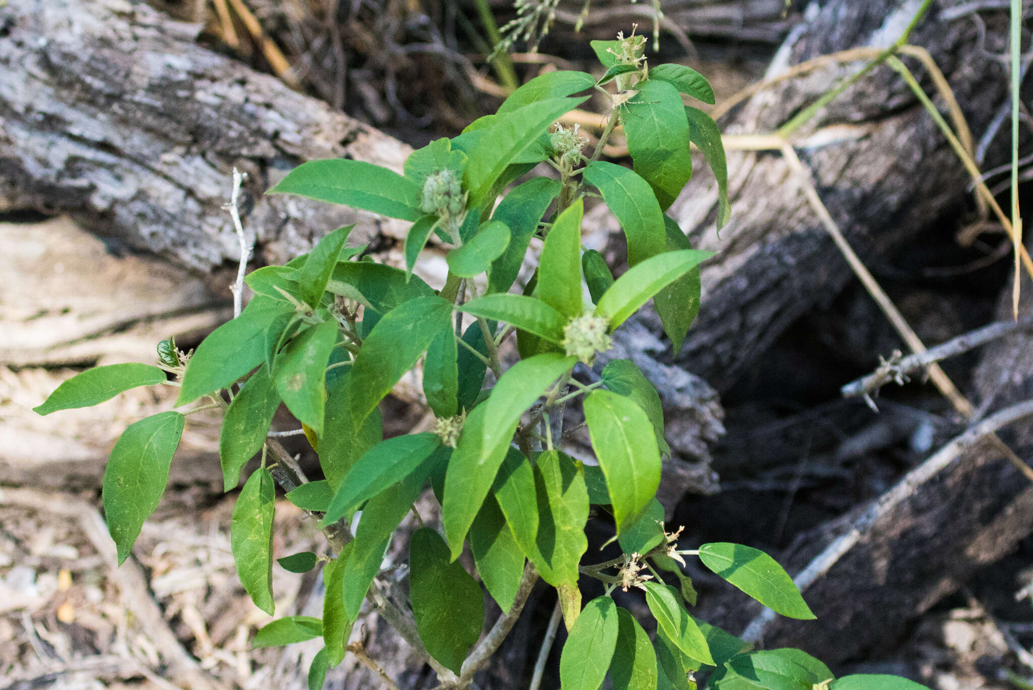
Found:
<svg viewBox="0 0 1033 690"><path fill-rule="evenodd" d="M681 343L698 308L699 265L710 256L692 249L663 214L691 175L690 142L707 155L722 190L726 184L716 125L685 107L681 95L713 102L713 91L688 67L647 67L644 43L636 36L594 41L605 69L600 80L574 71L538 77L496 115L415 151L404 176L355 160L300 166L272 192L412 221L406 269L361 258L361 247L346 246L350 229L342 228L286 266L250 273L246 280L255 297L191 355L162 342L158 366L90 369L37 408L50 414L158 384L180 386L178 407L210 399L138 421L116 444L102 498L120 563L161 498L186 416L218 407L225 410L220 458L226 489L238 485L249 459L261 456L237 500L230 531L241 582L255 604L274 611L276 484L319 518L328 541L322 618L276 620L254 639L255 646L277 646L322 637L310 687L322 685L327 666L340 663L347 649L365 654L348 646L364 599L424 654L443 687L469 687L539 577L556 589L569 630L560 665L565 690L596 690L607 672L615 688L690 688L699 670L709 670L711 685L725 690L913 687L891 677L834 681L803 652L751 652L690 616L695 592L681 568L685 557L698 558L782 614L813 618L792 580L765 553L729 543L679 549L681 530L665 531L655 498L661 455L668 452L663 415L657 391L637 367L613 360L598 383L572 377L575 365L591 365L609 348L611 333L650 299L667 336ZM609 82L616 94L603 88ZM586 99L572 94L590 89L606 93L613 111L586 155L576 128L554 123ZM634 171L600 160L619 122ZM559 179L524 181L496 204L541 162ZM598 252L583 251L586 196L600 197L627 237L629 269L616 280ZM719 216L723 224L723 197ZM451 245L448 278L439 291L412 274L432 235ZM534 277L522 294L510 293L534 238L543 241ZM585 287L594 304L586 303ZM504 369L499 348L511 335L521 359ZM424 391L437 417L434 431L383 440L378 404L420 359ZM495 383L484 389L489 369ZM563 406L582 397L597 466L559 450ZM269 436L281 401L303 423L324 479L304 482ZM411 538L410 610L376 580L393 533L428 483L441 505L444 535L422 528ZM613 516L620 558L582 563L592 505ZM467 546L479 583L457 562ZM305 552L279 564L305 572L319 560ZM680 587L666 584L661 571ZM584 607L582 576L605 586L605 594ZM487 634L481 584L502 610ZM645 593L657 623L655 640L615 604L609 595L619 587ZM558 621L554 617L553 625Z"/></svg>

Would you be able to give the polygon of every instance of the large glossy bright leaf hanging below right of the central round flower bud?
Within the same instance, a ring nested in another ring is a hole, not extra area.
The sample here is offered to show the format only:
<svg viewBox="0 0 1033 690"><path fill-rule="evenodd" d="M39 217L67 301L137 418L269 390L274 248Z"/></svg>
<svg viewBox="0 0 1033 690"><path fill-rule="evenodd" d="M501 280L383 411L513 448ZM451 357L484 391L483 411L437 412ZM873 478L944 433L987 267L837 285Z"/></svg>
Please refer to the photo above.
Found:
<svg viewBox="0 0 1033 690"><path fill-rule="evenodd" d="M660 451L653 425L634 400L603 390L585 398L585 421L621 534L638 519L660 486Z"/></svg>

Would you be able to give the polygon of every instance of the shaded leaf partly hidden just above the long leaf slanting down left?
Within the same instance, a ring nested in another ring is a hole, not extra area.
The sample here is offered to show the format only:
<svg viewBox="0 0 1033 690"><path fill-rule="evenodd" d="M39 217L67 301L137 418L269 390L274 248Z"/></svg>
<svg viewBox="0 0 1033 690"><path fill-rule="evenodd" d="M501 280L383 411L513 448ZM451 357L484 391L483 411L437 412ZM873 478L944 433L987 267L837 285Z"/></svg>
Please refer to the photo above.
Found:
<svg viewBox="0 0 1033 690"><path fill-rule="evenodd" d="M350 366L331 369L330 373L343 373L327 377L325 421L322 438L319 439L319 467L331 489L336 489L355 460L383 438L383 423L377 409L355 430L348 407L350 369Z"/></svg>

